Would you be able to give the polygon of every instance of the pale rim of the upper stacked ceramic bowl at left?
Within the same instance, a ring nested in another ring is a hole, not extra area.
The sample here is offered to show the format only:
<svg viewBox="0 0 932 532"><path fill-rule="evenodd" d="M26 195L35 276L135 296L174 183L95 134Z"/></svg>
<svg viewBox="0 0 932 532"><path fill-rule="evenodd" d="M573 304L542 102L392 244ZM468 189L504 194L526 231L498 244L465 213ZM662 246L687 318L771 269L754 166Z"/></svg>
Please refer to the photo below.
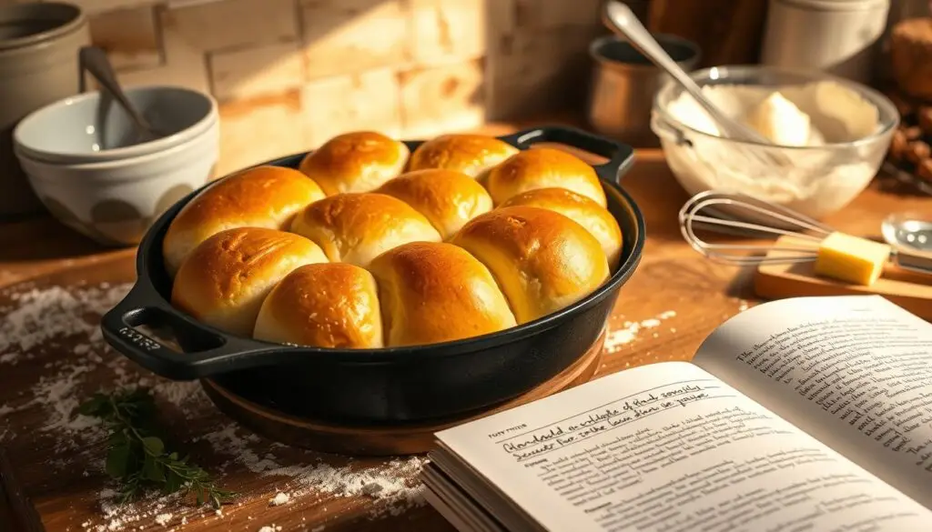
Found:
<svg viewBox="0 0 932 532"><path fill-rule="evenodd" d="M38 120L41 117L45 117L48 114L55 113L56 111L66 107L68 105L73 105L77 102L86 102L88 100L100 99L103 91L101 90L89 90L80 94L75 94L57 100L55 102L48 103L39 109L36 109L29 115L21 119L21 121L16 125L16 128L13 130L13 143L17 149L21 152L28 154L30 158L34 160L45 161L48 163L89 163L89 162L107 162L107 161L116 161L120 159L127 159L130 157L139 157L144 155L151 155L155 152L164 151L172 146L178 145L180 143L185 143L195 137L198 137L205 130L210 130L212 122L215 122L219 118L218 113L218 104L215 98L212 95L207 94L206 92L201 92L195 89L188 89L186 87L177 86L177 85L140 85L136 87L129 87L124 89L127 95L137 92L149 92L149 91L171 91L171 92L183 92L192 96L201 98L203 101L207 102L209 105L207 113L204 116L201 116L197 122L188 126L184 130L176 131L171 135L165 137L159 137L153 141L147 143L138 143L131 144L129 146L122 146L118 148L112 148L108 150L102 150L99 152L90 152L90 153L78 153L78 152L63 152L63 151L54 151L37 148L31 143L23 142L23 130L30 125L34 120Z"/></svg>

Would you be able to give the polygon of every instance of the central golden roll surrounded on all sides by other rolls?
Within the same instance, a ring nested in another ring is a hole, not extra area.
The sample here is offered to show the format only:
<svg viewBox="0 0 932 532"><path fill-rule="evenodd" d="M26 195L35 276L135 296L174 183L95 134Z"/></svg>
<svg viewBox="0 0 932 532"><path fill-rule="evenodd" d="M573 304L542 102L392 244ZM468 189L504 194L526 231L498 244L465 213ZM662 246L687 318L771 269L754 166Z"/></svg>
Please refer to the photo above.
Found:
<svg viewBox="0 0 932 532"><path fill-rule="evenodd" d="M436 242L440 234L420 212L385 194L337 194L308 205L292 231L316 242L331 262L368 267L406 242Z"/></svg>

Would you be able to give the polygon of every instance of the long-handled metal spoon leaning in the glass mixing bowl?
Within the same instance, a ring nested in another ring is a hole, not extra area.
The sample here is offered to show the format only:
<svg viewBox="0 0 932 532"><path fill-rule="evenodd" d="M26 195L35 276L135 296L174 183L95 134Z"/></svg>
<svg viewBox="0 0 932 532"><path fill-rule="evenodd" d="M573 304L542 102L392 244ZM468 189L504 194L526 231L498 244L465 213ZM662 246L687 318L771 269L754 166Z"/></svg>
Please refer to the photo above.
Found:
<svg viewBox="0 0 932 532"><path fill-rule="evenodd" d="M686 74L682 68L679 68L677 61L673 61L665 49L647 31L647 28L640 23L640 20L637 20L637 16L631 11L630 7L618 0L609 0L605 4L603 20L612 30L627 37L645 57L662 68L683 89L686 89L692 98L706 109L706 113L715 120L725 137L750 143L773 144L757 131L751 130L744 124L722 113L715 103L709 101L706 95L703 94L702 89L696 85L695 81L692 81L692 77Z"/></svg>

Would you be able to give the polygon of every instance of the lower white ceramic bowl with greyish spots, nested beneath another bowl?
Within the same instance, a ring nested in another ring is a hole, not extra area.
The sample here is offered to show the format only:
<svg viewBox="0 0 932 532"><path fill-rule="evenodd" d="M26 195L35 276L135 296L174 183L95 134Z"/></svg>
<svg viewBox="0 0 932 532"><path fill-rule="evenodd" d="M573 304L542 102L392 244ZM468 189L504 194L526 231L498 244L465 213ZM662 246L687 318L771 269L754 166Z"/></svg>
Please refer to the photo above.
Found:
<svg viewBox="0 0 932 532"><path fill-rule="evenodd" d="M219 122L155 153L103 162L61 163L17 150L36 196L64 225L104 245L131 246L173 203L212 178Z"/></svg>

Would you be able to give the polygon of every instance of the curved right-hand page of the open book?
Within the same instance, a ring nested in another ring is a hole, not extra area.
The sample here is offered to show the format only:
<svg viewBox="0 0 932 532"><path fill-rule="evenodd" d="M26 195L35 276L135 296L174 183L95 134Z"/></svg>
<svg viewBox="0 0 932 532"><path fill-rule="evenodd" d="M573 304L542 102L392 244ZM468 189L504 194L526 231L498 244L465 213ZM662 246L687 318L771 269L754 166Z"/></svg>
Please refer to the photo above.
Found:
<svg viewBox="0 0 932 532"><path fill-rule="evenodd" d="M693 362L932 508L932 325L877 295L774 301Z"/></svg>

